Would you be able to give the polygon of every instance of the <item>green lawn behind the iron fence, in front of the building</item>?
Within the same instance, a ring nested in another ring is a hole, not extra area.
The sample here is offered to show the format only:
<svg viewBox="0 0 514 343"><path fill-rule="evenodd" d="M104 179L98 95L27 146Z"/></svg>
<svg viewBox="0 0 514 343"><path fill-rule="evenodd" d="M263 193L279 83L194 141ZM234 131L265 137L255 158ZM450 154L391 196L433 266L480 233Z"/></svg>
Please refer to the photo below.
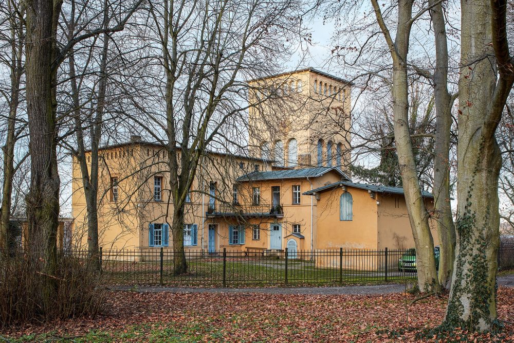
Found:
<svg viewBox="0 0 514 343"><path fill-rule="evenodd" d="M186 275L173 276L173 264L163 263L163 284L171 286L223 285L223 260L220 258L191 259ZM307 260L288 260L287 279L290 285L369 284L384 283L383 271L322 268ZM104 262L104 275L108 282L125 284L159 284L160 263L157 262ZM284 259L248 258L227 259L227 286L272 286L285 284ZM390 270L387 281L415 280L415 273Z"/></svg>

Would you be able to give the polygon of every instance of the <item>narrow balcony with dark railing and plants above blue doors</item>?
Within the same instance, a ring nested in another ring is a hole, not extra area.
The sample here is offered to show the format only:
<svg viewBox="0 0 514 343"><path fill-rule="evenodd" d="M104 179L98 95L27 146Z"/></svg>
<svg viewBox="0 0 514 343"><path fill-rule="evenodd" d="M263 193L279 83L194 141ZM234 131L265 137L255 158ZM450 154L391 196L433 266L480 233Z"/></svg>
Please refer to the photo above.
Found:
<svg viewBox="0 0 514 343"><path fill-rule="evenodd" d="M208 218L214 217L240 217L240 218L283 218L284 210L282 205L234 205L216 204L214 208L208 208L206 212Z"/></svg>

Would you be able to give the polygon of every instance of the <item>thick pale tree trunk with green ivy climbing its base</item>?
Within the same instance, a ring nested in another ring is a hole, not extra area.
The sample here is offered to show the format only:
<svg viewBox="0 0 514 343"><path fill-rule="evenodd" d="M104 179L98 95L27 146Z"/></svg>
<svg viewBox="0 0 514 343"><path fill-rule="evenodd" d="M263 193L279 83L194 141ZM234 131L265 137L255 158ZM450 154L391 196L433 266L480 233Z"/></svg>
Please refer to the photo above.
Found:
<svg viewBox="0 0 514 343"><path fill-rule="evenodd" d="M494 134L514 82L514 68L507 43L506 0L461 5L457 255L444 323L484 331L497 318L502 157Z"/></svg>

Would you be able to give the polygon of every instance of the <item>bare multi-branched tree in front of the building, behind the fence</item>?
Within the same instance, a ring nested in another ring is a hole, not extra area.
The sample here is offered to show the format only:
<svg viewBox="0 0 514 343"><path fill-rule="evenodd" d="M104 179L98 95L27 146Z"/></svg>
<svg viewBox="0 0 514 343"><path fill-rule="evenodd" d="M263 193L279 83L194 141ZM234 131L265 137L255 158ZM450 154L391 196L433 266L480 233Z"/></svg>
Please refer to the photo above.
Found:
<svg viewBox="0 0 514 343"><path fill-rule="evenodd" d="M203 156L208 149L234 152L245 146L241 129L230 128L247 122L247 80L270 75L289 55L300 28L298 6L281 0L150 5L144 40L153 43L149 56L162 69L151 79L155 64L147 66L144 81L151 84L133 79L139 89L154 92L139 92L133 104L143 116L133 118L166 149L176 274L187 271L185 204Z"/></svg>

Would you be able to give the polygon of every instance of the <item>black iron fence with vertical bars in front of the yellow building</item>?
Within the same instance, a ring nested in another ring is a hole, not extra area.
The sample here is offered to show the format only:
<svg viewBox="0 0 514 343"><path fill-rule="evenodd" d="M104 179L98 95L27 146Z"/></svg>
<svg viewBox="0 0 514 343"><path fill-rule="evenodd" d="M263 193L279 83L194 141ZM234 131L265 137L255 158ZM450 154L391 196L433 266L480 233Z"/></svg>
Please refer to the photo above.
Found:
<svg viewBox="0 0 514 343"><path fill-rule="evenodd" d="M74 251L86 258L86 251ZM383 250L187 250L186 273L175 273L179 254L163 249L101 250L106 282L125 285L227 287L345 285L412 281L415 255L409 249ZM499 266L514 267L514 246L500 248Z"/></svg>

